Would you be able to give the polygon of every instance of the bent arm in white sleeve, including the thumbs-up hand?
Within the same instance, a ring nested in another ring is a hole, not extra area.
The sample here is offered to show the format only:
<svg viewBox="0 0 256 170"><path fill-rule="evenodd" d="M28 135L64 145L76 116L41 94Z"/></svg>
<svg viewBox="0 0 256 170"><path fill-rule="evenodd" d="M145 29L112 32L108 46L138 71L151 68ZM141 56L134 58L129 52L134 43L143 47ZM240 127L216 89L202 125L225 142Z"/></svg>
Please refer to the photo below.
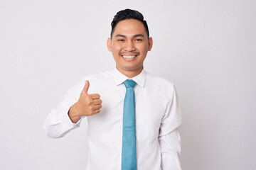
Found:
<svg viewBox="0 0 256 170"><path fill-rule="evenodd" d="M90 83L84 82L80 81L73 86L65 94L64 100L46 118L43 128L48 137L63 137L70 130L79 127L82 116L100 113L100 94L88 94Z"/></svg>

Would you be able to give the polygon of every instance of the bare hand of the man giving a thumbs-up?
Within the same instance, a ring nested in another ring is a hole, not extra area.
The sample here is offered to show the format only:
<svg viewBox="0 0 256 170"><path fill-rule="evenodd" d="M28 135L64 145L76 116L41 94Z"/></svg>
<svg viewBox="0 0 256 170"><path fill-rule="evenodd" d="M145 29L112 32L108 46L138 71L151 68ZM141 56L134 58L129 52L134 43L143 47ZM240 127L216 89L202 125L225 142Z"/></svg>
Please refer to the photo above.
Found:
<svg viewBox="0 0 256 170"><path fill-rule="evenodd" d="M89 86L89 81L85 81L85 86L82 89L78 102L70 107L68 115L73 123L78 122L82 115L100 113L100 108L102 108L100 94L88 94Z"/></svg>

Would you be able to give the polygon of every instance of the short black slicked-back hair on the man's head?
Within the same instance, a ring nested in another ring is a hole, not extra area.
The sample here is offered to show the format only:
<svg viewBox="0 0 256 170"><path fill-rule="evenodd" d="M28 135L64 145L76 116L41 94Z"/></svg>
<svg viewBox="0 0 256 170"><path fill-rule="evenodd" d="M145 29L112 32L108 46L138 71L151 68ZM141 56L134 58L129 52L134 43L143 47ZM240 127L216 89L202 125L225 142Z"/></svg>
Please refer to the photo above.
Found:
<svg viewBox="0 0 256 170"><path fill-rule="evenodd" d="M114 16L113 21L111 23L111 27L112 27L112 30L111 30L111 33L110 33L111 38L112 38L112 35L114 33L114 28L117 26L117 23L119 23L119 21L122 21L122 20L125 20L125 19L136 19L138 21L141 21L144 25L146 35L149 38L149 28L147 26L146 21L144 20L144 17L142 15L142 13L140 13L139 11L129 9L129 8L117 12L117 14Z"/></svg>

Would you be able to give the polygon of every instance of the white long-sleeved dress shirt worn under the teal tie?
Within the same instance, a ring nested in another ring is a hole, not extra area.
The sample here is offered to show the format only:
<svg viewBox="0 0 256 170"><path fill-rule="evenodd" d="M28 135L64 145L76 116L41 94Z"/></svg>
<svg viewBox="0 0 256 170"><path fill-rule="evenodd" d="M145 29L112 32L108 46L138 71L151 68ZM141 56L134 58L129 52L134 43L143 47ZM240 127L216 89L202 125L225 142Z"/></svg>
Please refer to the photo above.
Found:
<svg viewBox="0 0 256 170"><path fill-rule="evenodd" d="M78 128L87 118L87 170L119 170L122 157L122 120L126 76L114 69L83 77L65 95L58 107L46 118L44 128L49 137L63 137ZM68 110L78 101L85 81L88 94L100 94L100 113L84 116L72 123ZM174 84L149 74L144 69L133 77L135 94L136 147L138 170L180 170L181 139L178 127L181 112Z"/></svg>

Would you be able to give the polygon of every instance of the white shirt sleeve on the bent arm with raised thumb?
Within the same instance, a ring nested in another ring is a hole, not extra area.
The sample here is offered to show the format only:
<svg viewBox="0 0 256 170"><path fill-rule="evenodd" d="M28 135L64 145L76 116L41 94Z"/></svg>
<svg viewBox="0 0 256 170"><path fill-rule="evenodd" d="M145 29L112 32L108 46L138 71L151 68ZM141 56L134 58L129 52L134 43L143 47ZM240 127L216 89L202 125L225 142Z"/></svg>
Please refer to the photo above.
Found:
<svg viewBox="0 0 256 170"><path fill-rule="evenodd" d="M61 101L57 108L53 109L47 116L43 128L46 130L48 137L63 137L70 132L70 130L80 126L81 118L77 123L73 123L68 116L68 111L70 107L78 101L83 86L85 86L85 81L82 80L69 89L65 94L63 101Z"/></svg>

